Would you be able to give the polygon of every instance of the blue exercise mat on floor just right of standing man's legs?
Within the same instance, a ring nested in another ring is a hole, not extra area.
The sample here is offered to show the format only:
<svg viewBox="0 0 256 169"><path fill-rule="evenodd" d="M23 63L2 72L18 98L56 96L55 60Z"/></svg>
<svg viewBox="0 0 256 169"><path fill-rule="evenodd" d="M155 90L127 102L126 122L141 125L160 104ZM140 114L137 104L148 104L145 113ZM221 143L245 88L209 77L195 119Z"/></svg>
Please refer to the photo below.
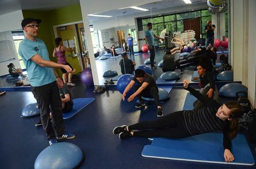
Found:
<svg viewBox="0 0 256 169"><path fill-rule="evenodd" d="M76 98L76 99L73 99L73 103L74 103L73 109L72 109L72 111L63 114L63 119L71 118L72 116L77 114L77 112L79 112L81 109L83 109L84 107L89 105L94 100L95 100L95 98Z"/></svg>

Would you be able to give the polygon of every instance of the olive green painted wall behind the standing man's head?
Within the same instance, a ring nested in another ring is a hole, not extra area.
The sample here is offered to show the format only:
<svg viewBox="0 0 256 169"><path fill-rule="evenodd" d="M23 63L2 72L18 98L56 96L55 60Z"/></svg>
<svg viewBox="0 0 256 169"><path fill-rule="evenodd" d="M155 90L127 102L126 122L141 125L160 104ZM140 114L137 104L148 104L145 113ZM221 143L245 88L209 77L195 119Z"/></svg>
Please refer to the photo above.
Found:
<svg viewBox="0 0 256 169"><path fill-rule="evenodd" d="M80 4L69 6L65 8L60 8L52 11L42 12L42 11L31 11L23 10L24 18L39 18L42 20L40 23L40 30L38 38L46 43L47 49L49 51L50 60L57 62L57 58L52 57L53 49L55 47L55 36L53 31L54 25L66 24L71 22L82 21L82 13ZM70 63L72 65L72 63ZM60 70L56 70L59 75L61 75Z"/></svg>

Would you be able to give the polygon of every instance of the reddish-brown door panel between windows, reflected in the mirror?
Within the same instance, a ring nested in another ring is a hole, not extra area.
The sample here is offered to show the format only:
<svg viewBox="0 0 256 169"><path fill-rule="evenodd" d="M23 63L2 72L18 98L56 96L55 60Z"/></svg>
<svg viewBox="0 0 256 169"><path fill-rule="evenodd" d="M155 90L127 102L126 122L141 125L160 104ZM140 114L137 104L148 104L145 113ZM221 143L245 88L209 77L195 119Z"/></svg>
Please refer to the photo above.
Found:
<svg viewBox="0 0 256 169"><path fill-rule="evenodd" d="M200 39L200 18L184 19L183 20L184 31L194 30L196 33L195 39Z"/></svg>

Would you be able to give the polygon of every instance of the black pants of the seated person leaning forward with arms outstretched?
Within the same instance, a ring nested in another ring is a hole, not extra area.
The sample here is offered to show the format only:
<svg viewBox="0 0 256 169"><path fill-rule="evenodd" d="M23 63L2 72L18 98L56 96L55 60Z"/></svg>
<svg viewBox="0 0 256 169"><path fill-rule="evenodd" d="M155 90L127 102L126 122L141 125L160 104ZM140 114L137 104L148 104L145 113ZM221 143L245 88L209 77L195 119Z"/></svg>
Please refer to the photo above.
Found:
<svg viewBox="0 0 256 169"><path fill-rule="evenodd" d="M135 92L139 89L139 86L135 86L134 90ZM139 93L136 96L139 101L142 103L143 99L142 97L147 97L147 98L154 98L157 106L160 106L160 100L159 100L159 94L158 94L158 89L156 87L151 87L151 88L146 88L144 89L141 93Z"/></svg>

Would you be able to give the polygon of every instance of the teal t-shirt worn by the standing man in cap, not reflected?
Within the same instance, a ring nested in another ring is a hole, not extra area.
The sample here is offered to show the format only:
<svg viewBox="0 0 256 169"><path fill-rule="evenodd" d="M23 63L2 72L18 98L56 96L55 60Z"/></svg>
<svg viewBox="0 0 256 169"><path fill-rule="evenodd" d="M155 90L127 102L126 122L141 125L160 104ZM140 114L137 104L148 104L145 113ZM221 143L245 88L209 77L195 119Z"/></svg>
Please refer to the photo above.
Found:
<svg viewBox="0 0 256 169"><path fill-rule="evenodd" d="M26 66L32 87L47 85L56 80L52 68L41 67L31 60L35 54L39 54L43 60L50 61L47 47L42 40L31 41L25 38L19 44L18 53Z"/></svg>

